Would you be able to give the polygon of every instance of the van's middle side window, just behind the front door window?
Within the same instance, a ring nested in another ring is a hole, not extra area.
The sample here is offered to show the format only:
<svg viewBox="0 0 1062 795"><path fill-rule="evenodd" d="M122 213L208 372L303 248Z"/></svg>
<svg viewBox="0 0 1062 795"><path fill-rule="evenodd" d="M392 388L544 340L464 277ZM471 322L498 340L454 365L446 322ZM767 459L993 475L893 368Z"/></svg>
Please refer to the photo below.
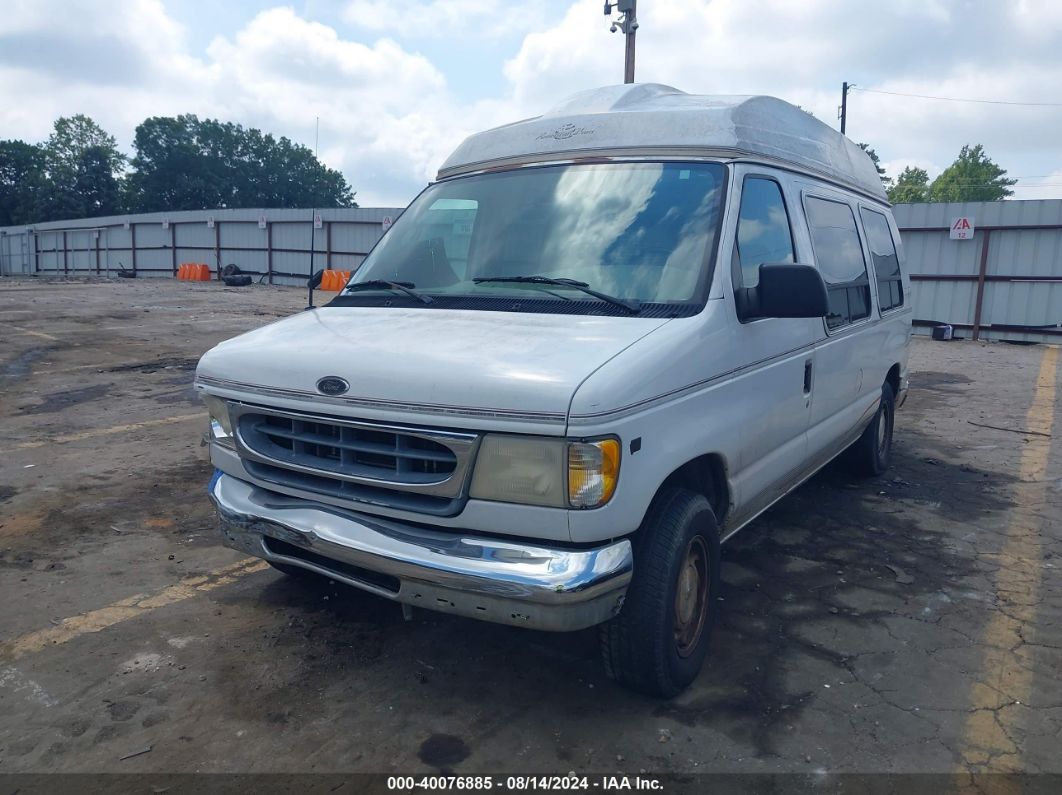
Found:
<svg viewBox="0 0 1062 795"><path fill-rule="evenodd" d="M815 258L829 295L826 327L837 329L870 317L870 279L852 208L816 196L807 197L805 208Z"/></svg>

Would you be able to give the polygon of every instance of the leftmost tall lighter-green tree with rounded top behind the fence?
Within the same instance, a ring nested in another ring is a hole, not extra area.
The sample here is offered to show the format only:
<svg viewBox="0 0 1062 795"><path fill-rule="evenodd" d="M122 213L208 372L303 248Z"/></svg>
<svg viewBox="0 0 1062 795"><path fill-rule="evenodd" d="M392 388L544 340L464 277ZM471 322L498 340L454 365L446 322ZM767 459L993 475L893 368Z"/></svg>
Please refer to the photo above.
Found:
<svg viewBox="0 0 1062 795"><path fill-rule="evenodd" d="M114 136L83 114L55 120L42 145L48 187L42 215L55 221L119 211L125 156Z"/></svg>

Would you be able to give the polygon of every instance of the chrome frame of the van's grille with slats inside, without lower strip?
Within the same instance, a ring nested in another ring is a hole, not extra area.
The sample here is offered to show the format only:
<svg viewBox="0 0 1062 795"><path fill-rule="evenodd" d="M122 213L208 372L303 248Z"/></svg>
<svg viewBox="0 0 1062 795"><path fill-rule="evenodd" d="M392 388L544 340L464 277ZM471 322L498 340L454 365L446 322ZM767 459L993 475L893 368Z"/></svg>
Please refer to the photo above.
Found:
<svg viewBox="0 0 1062 795"><path fill-rule="evenodd" d="M268 465L271 471L326 478L337 487L362 484L459 499L465 495L479 445L475 433L366 422L235 401L228 407L240 457ZM270 419L279 421L271 424ZM274 443L285 437L292 442L290 452ZM297 482L293 478L291 485Z"/></svg>

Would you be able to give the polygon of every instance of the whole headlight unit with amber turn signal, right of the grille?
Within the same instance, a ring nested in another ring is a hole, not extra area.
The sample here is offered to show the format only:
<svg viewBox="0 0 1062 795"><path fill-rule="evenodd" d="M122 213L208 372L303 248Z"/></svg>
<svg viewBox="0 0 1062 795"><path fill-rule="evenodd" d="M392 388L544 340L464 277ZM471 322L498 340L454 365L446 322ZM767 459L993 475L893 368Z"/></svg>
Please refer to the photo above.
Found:
<svg viewBox="0 0 1062 795"><path fill-rule="evenodd" d="M619 477L619 440L535 436L483 437L469 496L549 507L593 508L606 503Z"/></svg>

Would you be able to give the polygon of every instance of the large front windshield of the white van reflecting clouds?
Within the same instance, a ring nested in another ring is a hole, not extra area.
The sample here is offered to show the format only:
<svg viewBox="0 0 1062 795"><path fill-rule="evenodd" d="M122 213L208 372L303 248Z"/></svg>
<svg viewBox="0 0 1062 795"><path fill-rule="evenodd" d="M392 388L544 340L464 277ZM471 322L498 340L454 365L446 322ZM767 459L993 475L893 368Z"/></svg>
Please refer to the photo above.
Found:
<svg viewBox="0 0 1062 795"><path fill-rule="evenodd" d="M545 166L436 183L332 305L606 314L667 305L691 314L707 293L724 183L710 162Z"/></svg>

